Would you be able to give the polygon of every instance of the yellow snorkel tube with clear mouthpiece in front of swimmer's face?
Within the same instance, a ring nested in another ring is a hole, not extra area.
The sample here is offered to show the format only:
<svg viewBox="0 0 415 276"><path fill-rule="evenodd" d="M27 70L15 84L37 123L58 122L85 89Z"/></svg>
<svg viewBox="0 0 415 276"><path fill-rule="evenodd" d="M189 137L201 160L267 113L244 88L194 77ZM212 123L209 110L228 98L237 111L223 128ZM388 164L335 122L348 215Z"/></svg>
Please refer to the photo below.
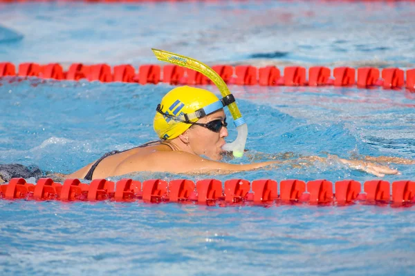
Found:
<svg viewBox="0 0 415 276"><path fill-rule="evenodd" d="M218 73L216 73L205 63L202 63L201 61L196 61L196 59L192 59L190 57L174 54L173 52L166 52L163 50L157 50L153 48L151 50L153 50L154 55L156 55L158 60L173 63L178 66L190 68L192 70L200 72L201 74L208 77L215 84L215 86L219 89L223 97L230 95L229 88L228 86L226 86L225 81L223 81L221 76L219 76ZM246 137L248 137L248 126L246 125L246 121L242 117L241 112L239 112L236 102L230 103L230 105L228 105L228 108L230 110L230 114L232 114L232 117L234 119L234 124L237 127L238 136L237 139L235 139L235 141L233 141L232 143L226 143L222 148L223 150L232 151L234 157L242 157L243 151L245 149Z"/></svg>

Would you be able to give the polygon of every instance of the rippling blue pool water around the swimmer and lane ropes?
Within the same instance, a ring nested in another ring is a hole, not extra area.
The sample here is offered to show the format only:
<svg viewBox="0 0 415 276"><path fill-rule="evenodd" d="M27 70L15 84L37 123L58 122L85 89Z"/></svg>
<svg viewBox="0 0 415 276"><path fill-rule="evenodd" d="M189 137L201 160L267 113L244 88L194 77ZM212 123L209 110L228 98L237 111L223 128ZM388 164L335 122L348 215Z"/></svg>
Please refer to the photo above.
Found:
<svg viewBox="0 0 415 276"><path fill-rule="evenodd" d="M154 47L210 64L414 68L415 41L407 32L414 14L407 2L0 4L0 60L138 66L158 63ZM68 173L104 152L156 139L155 108L171 88L0 79L0 164ZM248 122L250 149L232 163L281 159L284 152L293 159L327 153L415 159L415 95L406 90L230 90ZM335 159L295 164L216 178L378 178ZM382 179L414 180L414 165L389 166L401 175ZM205 177L212 176L188 178ZM412 275L415 268L414 207L0 200L0 219L1 275Z"/></svg>

